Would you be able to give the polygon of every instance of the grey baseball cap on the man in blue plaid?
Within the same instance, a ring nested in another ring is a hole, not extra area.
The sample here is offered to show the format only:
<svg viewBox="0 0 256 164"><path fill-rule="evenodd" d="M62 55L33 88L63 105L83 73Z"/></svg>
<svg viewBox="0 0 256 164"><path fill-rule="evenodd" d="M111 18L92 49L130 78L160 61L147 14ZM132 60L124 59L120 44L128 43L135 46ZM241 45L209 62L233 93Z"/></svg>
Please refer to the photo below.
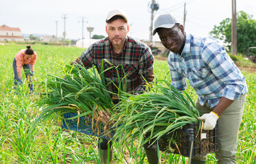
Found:
<svg viewBox="0 0 256 164"><path fill-rule="evenodd" d="M165 13L165 14L159 15L155 19L153 36L155 35L155 33L157 33L158 28L162 27L162 28L170 29L175 25L175 23L179 23L179 20L177 20L177 18L175 18L175 16L173 16L172 14Z"/></svg>

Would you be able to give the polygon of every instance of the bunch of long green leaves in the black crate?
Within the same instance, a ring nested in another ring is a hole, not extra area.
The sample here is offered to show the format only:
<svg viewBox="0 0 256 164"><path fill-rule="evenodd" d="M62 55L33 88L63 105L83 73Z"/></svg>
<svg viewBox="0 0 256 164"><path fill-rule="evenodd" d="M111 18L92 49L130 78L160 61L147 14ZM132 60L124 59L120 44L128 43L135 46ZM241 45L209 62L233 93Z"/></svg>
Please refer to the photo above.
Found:
<svg viewBox="0 0 256 164"><path fill-rule="evenodd" d="M123 143L138 139L139 146L142 146L185 124L199 122L200 113L190 96L176 90L168 81L160 82L168 87L152 83L151 92L121 95L116 115L112 118L117 120L114 139ZM149 137L146 137L147 134Z"/></svg>

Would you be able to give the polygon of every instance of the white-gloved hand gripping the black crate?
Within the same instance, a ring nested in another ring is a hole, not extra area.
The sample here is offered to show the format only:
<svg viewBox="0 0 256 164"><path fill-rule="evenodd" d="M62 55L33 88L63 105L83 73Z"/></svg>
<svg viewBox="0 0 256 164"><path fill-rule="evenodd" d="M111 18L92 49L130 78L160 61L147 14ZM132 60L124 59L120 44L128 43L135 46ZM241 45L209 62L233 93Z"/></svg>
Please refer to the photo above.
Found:
<svg viewBox="0 0 256 164"><path fill-rule="evenodd" d="M204 130L212 130L216 126L216 122L218 120L218 115L211 111L210 113L203 114L199 120L203 121L205 120L205 123L203 124L203 129Z"/></svg>

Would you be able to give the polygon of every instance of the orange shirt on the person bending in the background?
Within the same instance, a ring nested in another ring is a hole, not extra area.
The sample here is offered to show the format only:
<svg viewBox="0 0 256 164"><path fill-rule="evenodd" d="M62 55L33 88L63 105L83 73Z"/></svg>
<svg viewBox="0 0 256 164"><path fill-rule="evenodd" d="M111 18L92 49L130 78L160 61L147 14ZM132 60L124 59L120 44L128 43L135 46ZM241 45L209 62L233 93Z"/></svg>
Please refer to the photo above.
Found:
<svg viewBox="0 0 256 164"><path fill-rule="evenodd" d="M30 64L31 66L36 64L36 57L37 57L36 52L34 51L33 57L31 57L30 59L27 59L25 54L26 50L27 49L22 49L15 55L17 72L21 72L22 66L24 64Z"/></svg>

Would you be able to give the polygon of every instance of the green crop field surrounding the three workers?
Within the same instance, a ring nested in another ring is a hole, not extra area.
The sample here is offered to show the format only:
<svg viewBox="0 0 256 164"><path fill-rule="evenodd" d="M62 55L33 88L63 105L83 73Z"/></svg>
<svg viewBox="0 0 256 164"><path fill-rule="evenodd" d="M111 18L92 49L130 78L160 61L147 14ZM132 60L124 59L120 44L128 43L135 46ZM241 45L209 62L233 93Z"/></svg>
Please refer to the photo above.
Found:
<svg viewBox="0 0 256 164"><path fill-rule="evenodd" d="M29 134L31 124L40 114L40 107L34 102L40 100L43 92L40 82L47 74L61 76L59 65L69 64L81 55L83 49L75 47L35 44L31 48L38 53L35 76L38 80L35 93L29 95L27 83L19 87L18 94L12 89L12 61L15 54L27 45L0 45L0 163L98 163L97 137L66 131L61 128L61 120L52 115ZM247 101L240 126L238 143L238 163L256 163L256 75L243 72L248 85ZM25 79L25 74L23 81ZM167 61L155 61L155 78L168 79ZM196 94L188 87L188 94L196 100ZM118 142L114 143L118 148ZM214 153L208 154L207 163L217 163ZM114 150L114 163L148 163L143 149ZM177 154L162 153L162 163L188 163L188 158Z"/></svg>

